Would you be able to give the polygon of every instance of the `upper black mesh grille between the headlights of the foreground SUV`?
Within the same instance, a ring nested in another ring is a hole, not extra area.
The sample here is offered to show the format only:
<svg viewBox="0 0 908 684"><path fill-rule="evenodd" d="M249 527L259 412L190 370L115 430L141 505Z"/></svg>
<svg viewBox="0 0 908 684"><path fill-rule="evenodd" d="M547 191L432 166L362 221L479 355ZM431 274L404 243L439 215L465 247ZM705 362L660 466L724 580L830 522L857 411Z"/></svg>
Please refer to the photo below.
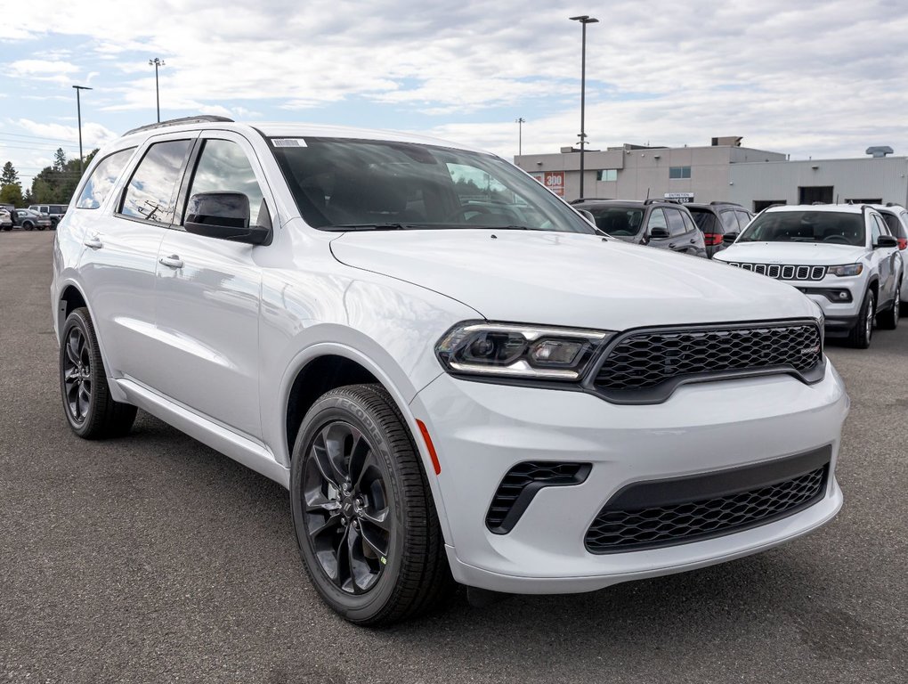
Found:
<svg viewBox="0 0 908 684"><path fill-rule="evenodd" d="M822 362L813 323L646 331L628 335L608 352L595 384L601 392L619 393L706 373L774 367L807 372Z"/></svg>

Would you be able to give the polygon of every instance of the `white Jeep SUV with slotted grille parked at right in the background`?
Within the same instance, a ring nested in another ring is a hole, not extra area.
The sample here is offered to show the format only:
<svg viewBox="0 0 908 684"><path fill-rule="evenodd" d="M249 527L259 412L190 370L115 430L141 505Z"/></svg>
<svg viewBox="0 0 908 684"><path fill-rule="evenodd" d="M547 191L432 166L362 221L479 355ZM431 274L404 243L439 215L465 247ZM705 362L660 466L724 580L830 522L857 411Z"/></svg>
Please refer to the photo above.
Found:
<svg viewBox="0 0 908 684"><path fill-rule="evenodd" d="M715 258L794 285L823 309L826 334L854 347L870 346L874 322L898 325L902 256L873 207L770 207Z"/></svg>

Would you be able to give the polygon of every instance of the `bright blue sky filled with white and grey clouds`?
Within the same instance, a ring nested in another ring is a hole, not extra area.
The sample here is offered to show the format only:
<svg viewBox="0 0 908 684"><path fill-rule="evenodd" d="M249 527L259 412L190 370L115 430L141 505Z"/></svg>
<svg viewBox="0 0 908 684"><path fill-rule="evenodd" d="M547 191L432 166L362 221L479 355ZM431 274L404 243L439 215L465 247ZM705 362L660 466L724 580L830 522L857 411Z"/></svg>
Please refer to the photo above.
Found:
<svg viewBox="0 0 908 684"><path fill-rule="evenodd" d="M223 114L434 134L512 157L579 133L591 149L744 144L807 157L908 155L904 0L6 0L0 164L23 185L161 115Z"/></svg>

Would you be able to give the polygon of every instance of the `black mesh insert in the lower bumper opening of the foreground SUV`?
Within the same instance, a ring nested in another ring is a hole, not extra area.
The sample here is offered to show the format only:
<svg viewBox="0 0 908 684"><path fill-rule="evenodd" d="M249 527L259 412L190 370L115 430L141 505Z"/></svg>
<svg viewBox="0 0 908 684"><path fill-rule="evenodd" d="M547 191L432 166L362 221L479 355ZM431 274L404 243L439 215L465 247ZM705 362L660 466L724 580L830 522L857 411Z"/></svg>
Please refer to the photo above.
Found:
<svg viewBox="0 0 908 684"><path fill-rule="evenodd" d="M806 508L825 490L828 464L750 491L652 508L599 512L587 530L591 553L654 549L756 527Z"/></svg>

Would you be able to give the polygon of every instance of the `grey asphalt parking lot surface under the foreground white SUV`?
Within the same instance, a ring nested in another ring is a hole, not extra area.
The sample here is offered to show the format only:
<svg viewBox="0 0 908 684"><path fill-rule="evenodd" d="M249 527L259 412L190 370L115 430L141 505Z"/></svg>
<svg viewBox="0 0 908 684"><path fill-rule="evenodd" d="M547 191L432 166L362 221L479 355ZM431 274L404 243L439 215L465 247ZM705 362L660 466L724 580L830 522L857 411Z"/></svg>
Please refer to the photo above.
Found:
<svg viewBox="0 0 908 684"><path fill-rule="evenodd" d="M54 233L0 233L0 681L904 682L908 320L828 350L844 510L803 540L593 594L352 627L305 579L279 485L140 411L60 406Z"/></svg>

